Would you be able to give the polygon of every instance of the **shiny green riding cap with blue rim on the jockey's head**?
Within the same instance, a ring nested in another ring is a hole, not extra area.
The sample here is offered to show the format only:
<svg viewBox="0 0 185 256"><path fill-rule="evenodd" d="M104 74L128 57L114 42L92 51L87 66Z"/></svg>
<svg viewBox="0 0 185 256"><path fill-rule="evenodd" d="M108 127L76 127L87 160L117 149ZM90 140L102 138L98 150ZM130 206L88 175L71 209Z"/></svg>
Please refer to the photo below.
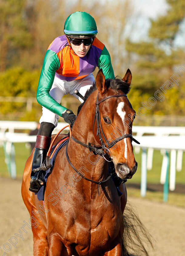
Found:
<svg viewBox="0 0 185 256"><path fill-rule="evenodd" d="M74 12L67 18L64 24L66 35L96 36L98 33L94 18L87 12Z"/></svg>

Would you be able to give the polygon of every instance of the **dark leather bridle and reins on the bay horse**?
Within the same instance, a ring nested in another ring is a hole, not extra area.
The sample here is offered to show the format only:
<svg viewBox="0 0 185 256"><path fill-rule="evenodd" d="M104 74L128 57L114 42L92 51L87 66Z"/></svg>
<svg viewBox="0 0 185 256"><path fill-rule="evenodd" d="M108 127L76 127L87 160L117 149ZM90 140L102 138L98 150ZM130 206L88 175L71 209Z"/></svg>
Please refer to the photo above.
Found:
<svg viewBox="0 0 185 256"><path fill-rule="evenodd" d="M85 143L81 142L80 140L77 140L76 138L74 138L74 137L71 135L72 140L74 140L76 143L78 143L78 144L80 144L80 145L82 145L82 146L88 148L90 152L93 151L93 153L94 153L95 155L99 153L99 150L100 150L101 148L103 148L103 150L105 150L106 153L107 153L107 152L110 152L110 151L109 151L109 148L112 148L116 142L118 142L118 141L120 141L120 140L123 140L124 138L128 138L128 137L130 137L131 140L133 140L133 141L136 142L137 144L140 144L137 140L135 140L135 139L133 138L132 134L130 134L130 133L125 134L125 135L122 135L122 136L120 136L119 138L116 138L116 140L113 140L112 143L110 144L110 143L108 142L108 140L106 139L106 136L105 136L105 134L104 134L104 132L103 132L102 124L101 124L101 120L100 120L99 104L100 104L101 102L103 102L103 101L109 99L109 98L123 97L123 96L124 96L124 97L127 97L126 94L115 94L115 95L110 95L110 96L108 96L108 97L105 97L105 98L103 98L102 100L98 101L98 94L97 94L97 99L96 99L96 111L95 111L95 117L94 117L94 123L93 123L93 130L94 130L94 124L95 124L95 121L96 121L96 123L97 123L97 133L96 133L96 136L97 136L97 135L99 136L99 140L100 140L100 142L101 142L101 146L100 146L100 145L98 145L98 146L96 146L96 145L91 145L92 143L90 143L90 142L89 142L88 144L85 144ZM101 130L100 130L100 129L101 129ZM104 144L104 142L103 142L103 138L102 138L101 133L103 134L103 137L104 137L104 139L105 139L106 144L107 144L108 147L105 146L105 144ZM99 185L101 185L103 182L106 182L107 180L109 180L109 178L112 176L112 173L109 174L109 176L108 176L108 178L107 178L106 180L102 180L102 181L95 181L95 180L90 180L90 179L86 178L84 175L82 175L81 172L79 172L79 171L74 167L74 165L73 165L73 164L71 163L71 161L69 160L69 156L68 156L68 153L67 153L68 142L69 142L69 140L67 141L67 144L66 144L66 158L67 158L69 164L71 165L71 167L72 167L83 179L98 184L98 194L99 194ZM102 151L102 152L103 152L103 151ZM103 153L104 153L104 152L103 152ZM105 155L106 153L104 153L104 155ZM103 157L104 157L104 155L103 155ZM112 157L110 157L110 158L111 158L111 161L112 161ZM104 157L104 159L105 159L106 161L108 161L105 157ZM108 161L108 162L111 162L111 161ZM100 195L100 194L99 194L99 195Z"/></svg>

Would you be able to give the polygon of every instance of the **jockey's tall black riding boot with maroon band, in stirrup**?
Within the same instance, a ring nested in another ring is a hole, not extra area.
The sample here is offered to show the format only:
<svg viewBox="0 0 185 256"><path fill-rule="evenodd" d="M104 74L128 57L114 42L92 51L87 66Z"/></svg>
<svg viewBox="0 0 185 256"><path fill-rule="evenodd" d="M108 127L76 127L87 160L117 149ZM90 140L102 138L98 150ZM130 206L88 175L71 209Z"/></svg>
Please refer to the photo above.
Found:
<svg viewBox="0 0 185 256"><path fill-rule="evenodd" d="M29 190L35 193L37 193L39 188L45 184L44 171L38 170L38 168L42 165L46 158L51 143L51 134L54 128L55 126L52 123L42 122L37 135L29 187Z"/></svg>

